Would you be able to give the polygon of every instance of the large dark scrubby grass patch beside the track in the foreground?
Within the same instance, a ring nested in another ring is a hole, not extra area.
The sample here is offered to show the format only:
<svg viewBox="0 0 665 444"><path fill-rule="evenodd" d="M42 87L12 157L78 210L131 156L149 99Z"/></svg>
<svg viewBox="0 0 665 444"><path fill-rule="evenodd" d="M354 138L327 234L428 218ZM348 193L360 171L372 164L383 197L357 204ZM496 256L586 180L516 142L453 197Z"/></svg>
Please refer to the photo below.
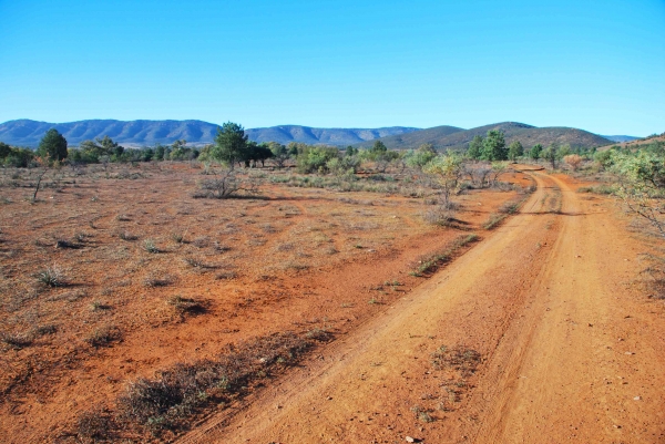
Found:
<svg viewBox="0 0 665 444"><path fill-rule="evenodd" d="M114 417L120 430L134 430L147 436L192 426L191 417L209 405L222 405L270 373L296 363L320 334L299 337L277 333L229 347L214 359L178 363L158 372L154 379L140 378L130 383L116 400ZM90 413L79 416L75 434L96 440L111 437L106 422Z"/></svg>

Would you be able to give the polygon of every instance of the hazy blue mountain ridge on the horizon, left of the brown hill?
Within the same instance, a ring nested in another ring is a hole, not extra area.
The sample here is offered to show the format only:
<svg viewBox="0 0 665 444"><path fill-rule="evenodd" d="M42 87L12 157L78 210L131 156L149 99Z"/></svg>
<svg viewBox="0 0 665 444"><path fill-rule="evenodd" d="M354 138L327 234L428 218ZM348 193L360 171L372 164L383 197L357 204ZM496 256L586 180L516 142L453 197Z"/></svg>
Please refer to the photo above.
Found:
<svg viewBox="0 0 665 444"><path fill-rule="evenodd" d="M202 121L113 121L91 120L70 123L48 123L30 120L10 121L0 124L0 141L10 145L37 146L44 133L58 130L70 145L108 135L115 142L129 145L154 145L172 143L184 138L188 143L212 143L217 125ZM304 142L346 146L395 134L417 131L413 127L393 126L376 130L364 128L313 128L308 126L284 125L268 128L246 130L249 138L256 142Z"/></svg>

